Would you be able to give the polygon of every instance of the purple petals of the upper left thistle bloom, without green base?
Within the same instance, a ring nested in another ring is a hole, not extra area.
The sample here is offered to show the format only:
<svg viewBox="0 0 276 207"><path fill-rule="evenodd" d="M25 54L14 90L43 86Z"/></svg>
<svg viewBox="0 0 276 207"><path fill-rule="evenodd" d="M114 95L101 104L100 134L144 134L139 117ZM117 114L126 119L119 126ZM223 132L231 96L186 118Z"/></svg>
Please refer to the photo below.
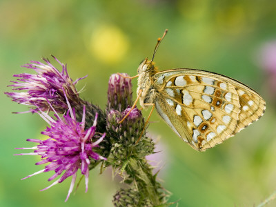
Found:
<svg viewBox="0 0 276 207"><path fill-rule="evenodd" d="M72 106L75 102L79 103L79 93L75 85L81 79L72 81L68 75L66 65L61 63L57 58L52 56L61 66L62 72L59 72L55 66L52 66L48 59L44 59L46 64L39 61L30 61L22 66L35 70L37 74L22 73L14 75L17 81L11 81L12 90L26 90L26 92L5 92L12 101L29 106L37 106L43 111L51 109L49 103L57 112L64 112L68 108L66 104L66 93ZM32 110L30 110L32 111Z"/></svg>

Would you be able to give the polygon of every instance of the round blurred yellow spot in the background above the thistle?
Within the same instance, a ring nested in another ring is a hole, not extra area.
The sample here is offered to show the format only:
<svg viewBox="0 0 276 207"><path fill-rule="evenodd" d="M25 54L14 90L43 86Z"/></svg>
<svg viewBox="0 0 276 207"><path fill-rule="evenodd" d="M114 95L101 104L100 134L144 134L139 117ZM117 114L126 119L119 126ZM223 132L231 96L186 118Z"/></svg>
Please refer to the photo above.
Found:
<svg viewBox="0 0 276 207"><path fill-rule="evenodd" d="M92 32L90 48L93 55L105 63L115 63L126 55L128 38L116 26L101 26Z"/></svg>

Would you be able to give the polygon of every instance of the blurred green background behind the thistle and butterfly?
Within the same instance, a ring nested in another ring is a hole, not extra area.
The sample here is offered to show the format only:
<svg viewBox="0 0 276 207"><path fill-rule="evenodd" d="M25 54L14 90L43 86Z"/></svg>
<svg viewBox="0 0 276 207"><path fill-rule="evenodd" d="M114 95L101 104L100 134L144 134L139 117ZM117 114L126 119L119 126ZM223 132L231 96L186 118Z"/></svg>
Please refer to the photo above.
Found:
<svg viewBox="0 0 276 207"><path fill-rule="evenodd" d="M110 170L100 176L99 169L90 172L88 193L81 184L67 203L69 179L43 192L39 190L50 185L51 173L20 180L41 166L34 166L37 157L13 156L19 153L14 148L30 147L26 139L41 137L46 123L37 115L13 115L27 108L3 92L11 90L6 86L12 75L28 71L21 65L55 55L68 63L72 79L88 74L77 86L86 88L81 97L105 108L109 76L136 75L166 28L168 35L155 56L160 70L221 73L254 88L267 102L262 119L206 152L190 148L154 112L150 121L158 123L148 130L160 137L165 161L160 177L172 193L170 201L180 199L179 206L256 206L273 193L276 102L260 59L264 45L276 39L276 1L2 0L0 206L112 206L120 184L112 180ZM132 83L135 91L137 80ZM276 206L276 201L268 206Z"/></svg>

